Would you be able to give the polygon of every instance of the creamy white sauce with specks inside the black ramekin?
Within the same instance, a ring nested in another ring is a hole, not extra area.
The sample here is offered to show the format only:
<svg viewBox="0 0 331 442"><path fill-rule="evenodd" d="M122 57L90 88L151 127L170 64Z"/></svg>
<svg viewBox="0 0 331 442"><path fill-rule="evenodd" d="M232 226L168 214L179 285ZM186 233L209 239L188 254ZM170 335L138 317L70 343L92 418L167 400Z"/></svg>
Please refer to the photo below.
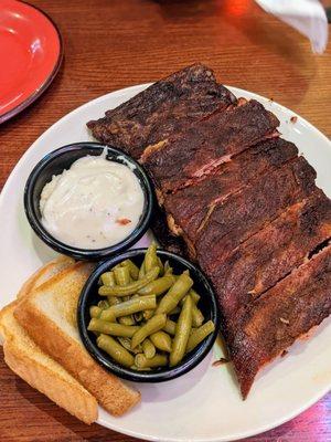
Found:
<svg viewBox="0 0 331 442"><path fill-rule="evenodd" d="M143 192L128 166L104 155L77 159L53 176L41 193L43 227L81 249L103 249L125 240L137 227Z"/></svg>

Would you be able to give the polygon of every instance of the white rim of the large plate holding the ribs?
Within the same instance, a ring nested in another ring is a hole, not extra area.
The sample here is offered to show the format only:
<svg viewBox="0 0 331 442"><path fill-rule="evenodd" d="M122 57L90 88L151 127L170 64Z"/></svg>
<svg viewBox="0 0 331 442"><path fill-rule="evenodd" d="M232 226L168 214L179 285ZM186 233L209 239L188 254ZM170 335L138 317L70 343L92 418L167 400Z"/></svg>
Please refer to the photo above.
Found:
<svg viewBox="0 0 331 442"><path fill-rule="evenodd" d="M92 101L89 101L87 103L84 103L83 105L78 106L77 108L71 110L70 113L64 115L62 118L60 118L57 122L52 124L52 126L50 126L43 134L41 134L34 140L34 143L25 150L25 152L22 155L22 157L17 162L15 167L12 169L11 173L9 175L4 186L2 188L1 194L0 194L0 210L1 210L2 204L3 204L3 199L4 199L3 196L7 192L7 189L10 187L11 181L15 178L17 171L21 167L21 162L23 162L25 157L31 152L31 150L33 150L35 144L40 140L40 138L45 136L52 129L52 127L54 125L57 125L58 123L61 123L62 120L66 119L72 114L79 113L82 110L82 108L84 108L84 107L87 108L88 106L95 104L95 102L97 103L98 101L103 101L106 97L110 97L110 96L114 96L114 95L115 96L120 96L120 95L126 95L126 94L128 94L130 92L139 93L139 92L143 91L146 87L150 86L151 84L152 83L138 84L138 85L128 86L128 87L120 88L120 90L115 90L115 91L109 92L107 94L100 95L100 96L98 96L98 97L96 97L96 98L94 98L94 99L92 99ZM255 99L263 99L263 101L266 101L266 99L268 101L269 99L269 98L267 98L267 97L265 97L263 95L259 95L259 94L256 94L254 92L246 91L246 90L243 90L243 88L239 88L239 87L236 87L236 86L227 86L226 85L226 87L228 87L235 94L242 94L243 93L243 94L254 95ZM281 112L286 112L286 113L290 112L293 116L298 116L300 118L300 123L301 124L303 124L309 130L312 130L316 136L322 138L324 140L324 143L327 143L331 148L331 140L322 131L320 131L316 126L313 126L311 123L309 123L306 118L301 117L296 112L291 110L290 108L288 108L286 106L282 106L281 104L279 104L278 102L276 102L274 99L273 101L269 99L269 101L273 102L275 105L277 105L281 109ZM284 419L276 419L271 423L267 423L267 424L260 425L259 429L246 430L246 431L242 431L241 433L233 433L231 435L226 435L225 434L225 435L221 435L221 436L216 436L216 438L213 436L213 438L209 438L209 439L205 439L205 438L204 439L195 439L194 442L235 441L235 440L241 440L243 438L253 436L253 435L256 435L256 434L264 433L264 432L266 432L268 430L271 430L271 429L274 429L276 427L279 427L279 425L290 421L291 419L296 418L297 415L301 414L303 411L306 411L311 406L313 406L318 400L320 400L323 396L325 396L330 391L330 389L331 389L331 385L325 386L324 389L319 390L319 393L317 393L313 397L311 397L311 399L309 401L306 401L305 404L302 404L302 407L299 407L296 410L293 410L291 413L288 413ZM163 442L163 441L164 442L190 442L190 440L188 438L182 438L182 436L180 436L180 438L167 438L167 440L166 440L166 439L160 438L160 436L153 436L151 434L140 433L140 432L137 432L137 431L134 431L134 430L126 430L122 427L120 427L120 420L109 423L109 422L105 421L103 417L98 417L98 420L96 421L96 423L98 423L98 424L100 424L100 425L103 425L103 427L105 427L107 429L117 431L119 433L127 434L127 435L135 436L135 438L145 439L147 441L152 441L152 442Z"/></svg>

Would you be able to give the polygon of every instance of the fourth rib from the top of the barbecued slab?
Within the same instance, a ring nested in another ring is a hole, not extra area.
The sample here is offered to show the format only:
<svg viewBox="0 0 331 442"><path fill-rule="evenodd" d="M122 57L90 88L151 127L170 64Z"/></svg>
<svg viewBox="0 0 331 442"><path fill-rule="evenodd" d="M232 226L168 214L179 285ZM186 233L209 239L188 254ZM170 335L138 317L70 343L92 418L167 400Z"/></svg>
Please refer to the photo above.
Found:
<svg viewBox="0 0 331 442"><path fill-rule="evenodd" d="M200 265L211 272L229 252L316 188L316 171L303 157L264 175L254 186L216 204L195 241Z"/></svg>

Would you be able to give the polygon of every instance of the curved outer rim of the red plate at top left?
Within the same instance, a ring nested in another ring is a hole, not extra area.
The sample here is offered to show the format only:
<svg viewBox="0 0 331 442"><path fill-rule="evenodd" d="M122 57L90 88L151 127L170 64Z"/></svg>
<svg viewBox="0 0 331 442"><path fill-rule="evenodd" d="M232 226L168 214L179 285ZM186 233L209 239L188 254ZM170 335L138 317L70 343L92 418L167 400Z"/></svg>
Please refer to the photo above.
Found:
<svg viewBox="0 0 331 442"><path fill-rule="evenodd" d="M51 23L51 25L54 28L57 39L58 39L58 56L56 59L56 62L54 64L54 67L52 72L49 74L49 76L45 78L45 81L41 84L39 88L35 88L34 92L32 92L29 97L26 97L23 102L19 103L17 106L14 106L12 109L7 110L4 114L0 113L0 124L8 122L9 119L13 118L18 114L20 114L22 110L24 110L26 107L29 107L32 103L34 103L47 88L49 86L53 83L61 65L64 59L64 44L63 44L63 38L60 32L60 29L57 24L54 22L54 20L46 13L44 12L41 8L29 3L28 1L18 1L14 0L15 3L24 3L25 6L30 7L31 9L36 10L39 13L44 15L46 20Z"/></svg>

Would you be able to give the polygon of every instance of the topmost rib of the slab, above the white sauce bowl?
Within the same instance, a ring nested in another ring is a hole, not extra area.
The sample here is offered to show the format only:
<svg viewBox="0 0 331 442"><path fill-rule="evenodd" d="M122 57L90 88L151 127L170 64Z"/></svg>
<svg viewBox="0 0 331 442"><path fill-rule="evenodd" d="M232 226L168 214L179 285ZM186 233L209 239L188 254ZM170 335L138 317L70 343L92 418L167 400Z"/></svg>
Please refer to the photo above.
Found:
<svg viewBox="0 0 331 442"><path fill-rule="evenodd" d="M235 102L213 71L194 64L163 78L106 116L87 123L93 136L139 158L148 145Z"/></svg>

